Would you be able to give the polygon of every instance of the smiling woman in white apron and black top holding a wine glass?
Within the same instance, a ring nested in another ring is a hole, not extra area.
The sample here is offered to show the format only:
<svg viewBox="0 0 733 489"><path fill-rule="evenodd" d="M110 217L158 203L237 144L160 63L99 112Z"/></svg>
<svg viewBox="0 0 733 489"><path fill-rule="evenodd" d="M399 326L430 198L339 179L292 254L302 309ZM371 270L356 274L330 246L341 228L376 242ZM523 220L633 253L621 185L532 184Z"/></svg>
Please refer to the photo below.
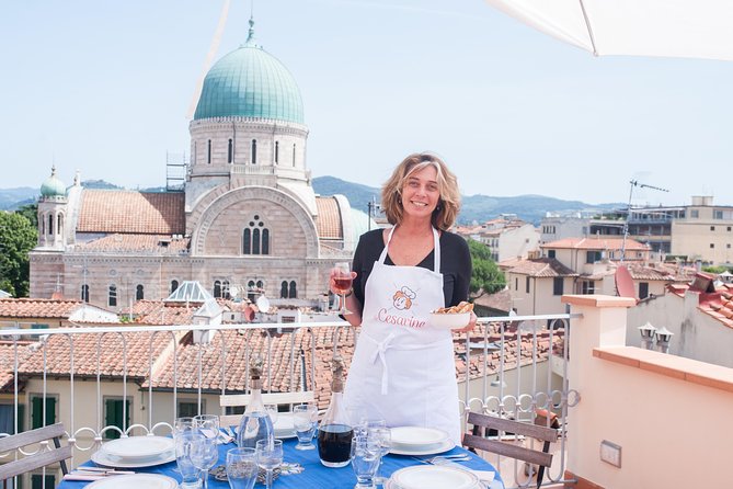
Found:
<svg viewBox="0 0 733 489"><path fill-rule="evenodd" d="M458 214L458 182L436 156L410 155L381 202L392 227L363 235L354 253L352 314L344 318L363 329L346 402L390 427L438 428L460 443L453 336L430 326L431 311L468 298L468 244L447 231ZM476 320L471 312L461 331Z"/></svg>

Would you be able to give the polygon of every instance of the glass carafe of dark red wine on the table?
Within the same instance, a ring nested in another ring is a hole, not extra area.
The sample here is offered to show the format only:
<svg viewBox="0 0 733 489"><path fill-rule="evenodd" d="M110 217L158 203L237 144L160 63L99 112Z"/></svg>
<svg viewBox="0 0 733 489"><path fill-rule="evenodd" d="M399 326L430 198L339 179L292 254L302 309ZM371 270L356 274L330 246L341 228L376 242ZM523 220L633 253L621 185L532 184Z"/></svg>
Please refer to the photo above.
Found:
<svg viewBox="0 0 733 489"><path fill-rule="evenodd" d="M332 361L331 403L318 429L318 455L327 467L348 465L352 451L352 428L344 406L344 362L341 356Z"/></svg>

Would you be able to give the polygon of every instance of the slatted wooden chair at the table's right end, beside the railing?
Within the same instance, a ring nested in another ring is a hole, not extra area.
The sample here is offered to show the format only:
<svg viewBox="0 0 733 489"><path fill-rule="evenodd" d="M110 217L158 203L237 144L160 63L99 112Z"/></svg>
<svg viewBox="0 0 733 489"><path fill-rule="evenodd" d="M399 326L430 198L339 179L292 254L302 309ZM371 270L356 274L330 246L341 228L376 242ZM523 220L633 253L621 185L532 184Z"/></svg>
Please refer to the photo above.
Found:
<svg viewBox="0 0 733 489"><path fill-rule="evenodd" d="M473 427L495 430L500 436L497 436L496 440L490 440L483 436L466 433L463 435L463 446L467 448L484 450L486 452L538 465L537 488L539 489L542 485L542 478L545 477L545 467L549 468L550 465L552 465L552 454L549 453L549 450L550 443L558 441L558 430L499 418L496 416L479 414L478 412L469 412L468 422L473 424ZM542 450L526 448L502 442L500 441L502 439L501 433L514 433L526 437L538 439L543 442Z"/></svg>

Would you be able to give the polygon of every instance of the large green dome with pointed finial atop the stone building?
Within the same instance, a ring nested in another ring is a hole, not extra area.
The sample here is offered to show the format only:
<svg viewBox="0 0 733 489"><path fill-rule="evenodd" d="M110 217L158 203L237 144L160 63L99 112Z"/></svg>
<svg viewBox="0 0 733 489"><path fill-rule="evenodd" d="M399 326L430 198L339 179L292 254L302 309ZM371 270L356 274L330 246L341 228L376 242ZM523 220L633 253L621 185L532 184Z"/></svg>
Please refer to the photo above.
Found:
<svg viewBox="0 0 733 489"><path fill-rule="evenodd" d="M293 75L250 36L219 59L204 79L194 120L262 117L303 124L302 100Z"/></svg>

